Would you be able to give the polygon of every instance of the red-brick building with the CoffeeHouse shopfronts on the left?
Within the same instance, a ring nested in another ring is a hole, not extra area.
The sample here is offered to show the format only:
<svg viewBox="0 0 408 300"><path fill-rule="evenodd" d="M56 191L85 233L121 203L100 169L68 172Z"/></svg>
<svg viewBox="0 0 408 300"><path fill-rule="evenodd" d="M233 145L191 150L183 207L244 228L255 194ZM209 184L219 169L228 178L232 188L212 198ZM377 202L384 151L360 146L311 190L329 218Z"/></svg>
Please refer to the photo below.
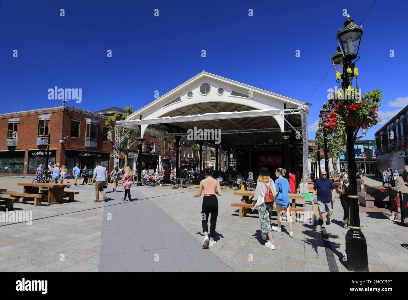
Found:
<svg viewBox="0 0 408 300"><path fill-rule="evenodd" d="M105 120L102 114L67 106L0 114L0 173L35 173L46 163L49 134L49 161L68 169L100 161L109 169L113 137Z"/></svg>

